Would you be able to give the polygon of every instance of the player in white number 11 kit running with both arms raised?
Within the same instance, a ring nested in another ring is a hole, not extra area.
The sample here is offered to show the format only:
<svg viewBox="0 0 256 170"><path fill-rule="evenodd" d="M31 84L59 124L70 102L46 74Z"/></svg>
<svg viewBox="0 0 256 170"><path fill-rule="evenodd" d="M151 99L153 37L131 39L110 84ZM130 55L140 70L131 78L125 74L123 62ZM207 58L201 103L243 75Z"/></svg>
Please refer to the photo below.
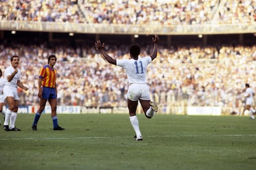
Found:
<svg viewBox="0 0 256 170"><path fill-rule="evenodd" d="M111 64L124 68L129 81L127 104L129 108L130 123L134 127L135 140L142 140L142 134L139 128L139 120L136 116L138 101L142 105L142 109L147 118L151 118L158 111L156 103L151 102L149 87L147 85L147 66L157 55L159 37L155 35L152 38L153 51L150 57L139 57L140 47L133 45L130 47L131 59L113 59L110 57L105 49L105 43L101 44L100 40L95 42L95 47L100 51L101 55Z"/></svg>

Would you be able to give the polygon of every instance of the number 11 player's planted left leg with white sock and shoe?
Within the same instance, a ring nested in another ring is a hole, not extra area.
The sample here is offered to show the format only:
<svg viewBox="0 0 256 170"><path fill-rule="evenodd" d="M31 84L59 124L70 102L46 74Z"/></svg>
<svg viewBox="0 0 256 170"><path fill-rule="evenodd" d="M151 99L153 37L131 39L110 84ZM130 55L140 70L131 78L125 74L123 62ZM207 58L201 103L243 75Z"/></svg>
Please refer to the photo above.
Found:
<svg viewBox="0 0 256 170"><path fill-rule="evenodd" d="M127 105L129 108L130 124L132 124L132 127L134 127L134 131L136 134L135 140L142 140L142 134L140 132L140 127L139 127L139 119L136 116L138 101L132 101L130 99L127 99Z"/></svg>

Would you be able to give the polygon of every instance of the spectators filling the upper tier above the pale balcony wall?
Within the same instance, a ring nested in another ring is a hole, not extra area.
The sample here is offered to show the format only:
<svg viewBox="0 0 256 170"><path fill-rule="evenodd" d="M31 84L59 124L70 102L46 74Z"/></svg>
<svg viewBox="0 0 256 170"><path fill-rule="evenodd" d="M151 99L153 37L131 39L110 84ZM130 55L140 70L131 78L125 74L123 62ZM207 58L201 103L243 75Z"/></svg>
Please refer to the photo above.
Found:
<svg viewBox="0 0 256 170"><path fill-rule="evenodd" d="M256 21L254 0L9 0L0 20L105 24L216 24Z"/></svg>

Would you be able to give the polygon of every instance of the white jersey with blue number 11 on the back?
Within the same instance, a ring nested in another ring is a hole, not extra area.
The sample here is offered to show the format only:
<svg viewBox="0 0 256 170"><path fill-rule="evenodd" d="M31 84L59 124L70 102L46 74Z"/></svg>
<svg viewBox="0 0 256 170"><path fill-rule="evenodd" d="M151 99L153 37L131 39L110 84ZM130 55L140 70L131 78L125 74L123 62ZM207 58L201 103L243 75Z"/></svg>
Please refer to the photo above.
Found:
<svg viewBox="0 0 256 170"><path fill-rule="evenodd" d="M124 68L129 84L147 83L147 66L151 62L151 57L139 57L138 60L117 59L116 65Z"/></svg>

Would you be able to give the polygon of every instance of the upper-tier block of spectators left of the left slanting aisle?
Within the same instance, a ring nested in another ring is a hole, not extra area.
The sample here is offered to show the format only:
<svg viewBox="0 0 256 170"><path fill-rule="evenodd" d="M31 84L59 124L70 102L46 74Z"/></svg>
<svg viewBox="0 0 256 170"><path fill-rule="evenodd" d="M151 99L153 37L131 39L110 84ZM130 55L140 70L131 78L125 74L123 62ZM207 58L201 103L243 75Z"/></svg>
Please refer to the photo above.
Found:
<svg viewBox="0 0 256 170"><path fill-rule="evenodd" d="M0 20L83 23L77 1L0 1Z"/></svg>

